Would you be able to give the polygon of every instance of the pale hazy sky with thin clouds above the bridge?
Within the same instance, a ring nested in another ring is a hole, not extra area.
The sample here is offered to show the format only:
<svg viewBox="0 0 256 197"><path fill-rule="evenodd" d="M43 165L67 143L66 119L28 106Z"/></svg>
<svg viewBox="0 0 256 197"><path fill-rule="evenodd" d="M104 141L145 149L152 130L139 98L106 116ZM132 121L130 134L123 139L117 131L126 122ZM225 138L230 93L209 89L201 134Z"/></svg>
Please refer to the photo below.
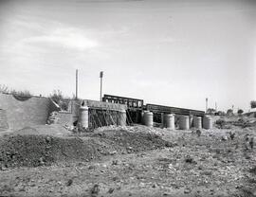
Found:
<svg viewBox="0 0 256 197"><path fill-rule="evenodd" d="M0 84L175 107L249 109L254 0L0 0Z"/></svg>

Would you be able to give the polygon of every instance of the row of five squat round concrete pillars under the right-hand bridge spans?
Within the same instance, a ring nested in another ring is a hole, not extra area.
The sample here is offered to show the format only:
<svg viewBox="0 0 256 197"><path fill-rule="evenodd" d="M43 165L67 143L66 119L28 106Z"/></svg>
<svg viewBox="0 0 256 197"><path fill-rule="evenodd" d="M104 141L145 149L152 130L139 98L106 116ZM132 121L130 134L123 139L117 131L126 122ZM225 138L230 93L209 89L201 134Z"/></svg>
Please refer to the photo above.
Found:
<svg viewBox="0 0 256 197"><path fill-rule="evenodd" d="M153 127L154 114L149 111L143 112L143 124L148 127ZM175 119L177 120L177 127L181 130L189 130L194 127L196 129L211 129L212 128L212 119L210 116L204 116L203 121L201 116L176 116L174 114L162 114L162 127L174 130Z"/></svg>

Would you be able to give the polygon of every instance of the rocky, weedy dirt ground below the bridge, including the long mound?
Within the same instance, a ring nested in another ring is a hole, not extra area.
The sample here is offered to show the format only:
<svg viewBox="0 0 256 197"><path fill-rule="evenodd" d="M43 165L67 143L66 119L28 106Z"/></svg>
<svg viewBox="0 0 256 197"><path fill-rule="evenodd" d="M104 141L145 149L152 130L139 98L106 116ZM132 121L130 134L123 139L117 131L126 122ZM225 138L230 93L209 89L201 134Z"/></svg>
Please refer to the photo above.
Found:
<svg viewBox="0 0 256 197"><path fill-rule="evenodd" d="M201 130L200 136L144 126L2 134L0 194L256 196L256 148L246 141L256 127L227 128Z"/></svg>

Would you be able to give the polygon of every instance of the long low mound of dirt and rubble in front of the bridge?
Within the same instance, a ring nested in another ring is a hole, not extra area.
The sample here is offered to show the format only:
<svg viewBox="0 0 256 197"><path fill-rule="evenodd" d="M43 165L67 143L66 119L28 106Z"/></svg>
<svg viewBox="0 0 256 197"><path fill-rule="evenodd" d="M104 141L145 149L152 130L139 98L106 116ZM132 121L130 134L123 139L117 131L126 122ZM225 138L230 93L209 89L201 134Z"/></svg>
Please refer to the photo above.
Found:
<svg viewBox="0 0 256 197"><path fill-rule="evenodd" d="M171 146L156 134L108 131L58 137L14 134L0 138L0 168L37 167L57 162L90 161L102 155L140 152Z"/></svg>

